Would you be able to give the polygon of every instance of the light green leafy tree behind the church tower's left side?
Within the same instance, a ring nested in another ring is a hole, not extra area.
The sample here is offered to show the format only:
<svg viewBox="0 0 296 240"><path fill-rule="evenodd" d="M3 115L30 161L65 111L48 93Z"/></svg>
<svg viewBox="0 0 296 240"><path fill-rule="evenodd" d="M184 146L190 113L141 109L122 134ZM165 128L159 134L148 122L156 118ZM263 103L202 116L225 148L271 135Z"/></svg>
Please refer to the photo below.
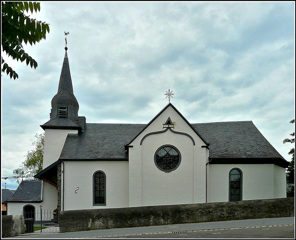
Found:
<svg viewBox="0 0 296 240"><path fill-rule="evenodd" d="M26 160L20 164L19 168L13 170L15 176L22 177L17 178L17 183L20 183L23 178L26 178L26 180L33 180L33 176L42 170L44 133L36 134L35 137L37 140L32 143L35 148L28 151L25 155Z"/></svg>

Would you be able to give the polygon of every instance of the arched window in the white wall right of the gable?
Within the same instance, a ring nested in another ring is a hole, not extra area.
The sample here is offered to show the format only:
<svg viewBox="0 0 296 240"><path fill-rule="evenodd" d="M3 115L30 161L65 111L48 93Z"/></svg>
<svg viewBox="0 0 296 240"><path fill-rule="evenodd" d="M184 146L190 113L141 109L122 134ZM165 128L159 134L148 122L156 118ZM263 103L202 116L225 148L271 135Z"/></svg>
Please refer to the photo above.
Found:
<svg viewBox="0 0 296 240"><path fill-rule="evenodd" d="M229 202L243 200L243 173L239 168L229 172Z"/></svg>

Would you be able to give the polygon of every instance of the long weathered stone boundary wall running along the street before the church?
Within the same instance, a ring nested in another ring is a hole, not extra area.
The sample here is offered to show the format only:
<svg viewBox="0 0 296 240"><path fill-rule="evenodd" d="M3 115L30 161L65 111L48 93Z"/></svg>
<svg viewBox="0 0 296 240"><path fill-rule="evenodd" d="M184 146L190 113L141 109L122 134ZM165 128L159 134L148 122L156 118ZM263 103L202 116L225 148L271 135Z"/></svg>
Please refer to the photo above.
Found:
<svg viewBox="0 0 296 240"><path fill-rule="evenodd" d="M74 232L293 216L294 197L289 197L237 202L66 210L60 212L59 220L60 232Z"/></svg>

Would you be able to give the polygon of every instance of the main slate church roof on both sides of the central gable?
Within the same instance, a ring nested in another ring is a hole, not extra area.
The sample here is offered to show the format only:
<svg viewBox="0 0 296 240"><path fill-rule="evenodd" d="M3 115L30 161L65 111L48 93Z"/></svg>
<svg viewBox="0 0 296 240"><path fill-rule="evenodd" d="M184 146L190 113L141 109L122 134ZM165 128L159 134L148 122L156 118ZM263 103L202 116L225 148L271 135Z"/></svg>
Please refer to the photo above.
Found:
<svg viewBox="0 0 296 240"><path fill-rule="evenodd" d="M271 146L252 121L191 124L209 143L209 158L284 158ZM68 134L62 159L128 160L124 145L145 124L87 123L85 131Z"/></svg>

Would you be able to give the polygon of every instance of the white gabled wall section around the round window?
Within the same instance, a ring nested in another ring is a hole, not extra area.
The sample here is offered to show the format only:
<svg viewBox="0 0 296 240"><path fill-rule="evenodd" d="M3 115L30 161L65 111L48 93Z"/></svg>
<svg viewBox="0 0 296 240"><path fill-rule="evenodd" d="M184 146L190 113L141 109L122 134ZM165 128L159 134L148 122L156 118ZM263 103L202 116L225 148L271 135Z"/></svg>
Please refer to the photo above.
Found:
<svg viewBox="0 0 296 240"><path fill-rule="evenodd" d="M163 123L170 117L174 131ZM143 140L142 140L143 139ZM142 145L140 142L142 140ZM172 145L181 154L179 167L169 173L154 164L154 154L163 145ZM205 202L205 163L208 151L205 143L172 107L164 110L132 143L129 149L129 206L168 205Z"/></svg>

